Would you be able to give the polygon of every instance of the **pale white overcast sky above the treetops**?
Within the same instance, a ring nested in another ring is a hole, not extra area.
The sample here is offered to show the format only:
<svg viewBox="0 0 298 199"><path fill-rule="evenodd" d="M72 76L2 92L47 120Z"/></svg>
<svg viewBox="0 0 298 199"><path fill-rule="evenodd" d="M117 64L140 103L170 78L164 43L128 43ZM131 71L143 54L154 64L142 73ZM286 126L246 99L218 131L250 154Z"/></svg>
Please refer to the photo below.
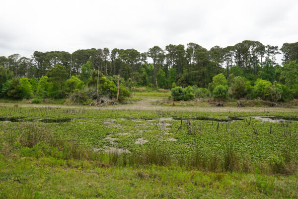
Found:
<svg viewBox="0 0 298 199"><path fill-rule="evenodd" d="M298 41L298 0L1 0L0 56Z"/></svg>

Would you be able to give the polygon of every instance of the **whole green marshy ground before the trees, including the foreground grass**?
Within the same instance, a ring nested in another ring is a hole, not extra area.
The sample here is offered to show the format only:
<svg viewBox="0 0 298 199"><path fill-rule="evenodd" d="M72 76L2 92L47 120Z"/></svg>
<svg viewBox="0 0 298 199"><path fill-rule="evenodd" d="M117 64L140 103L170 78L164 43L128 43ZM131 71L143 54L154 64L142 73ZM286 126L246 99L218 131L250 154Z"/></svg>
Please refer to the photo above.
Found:
<svg viewBox="0 0 298 199"><path fill-rule="evenodd" d="M12 105L0 198L298 198L294 108Z"/></svg>

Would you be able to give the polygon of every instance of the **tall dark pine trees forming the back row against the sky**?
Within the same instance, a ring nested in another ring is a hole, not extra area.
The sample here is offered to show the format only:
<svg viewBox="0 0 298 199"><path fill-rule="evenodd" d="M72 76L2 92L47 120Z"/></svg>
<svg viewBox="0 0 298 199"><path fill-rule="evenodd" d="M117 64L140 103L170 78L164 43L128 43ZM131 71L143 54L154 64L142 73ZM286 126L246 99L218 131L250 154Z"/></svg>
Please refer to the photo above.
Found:
<svg viewBox="0 0 298 199"><path fill-rule="evenodd" d="M277 54L283 54L283 66L276 63ZM59 65L65 70L65 81L74 76L87 84L92 71L99 71L110 78L120 75L124 81L134 85L171 89L173 83L181 87L208 88L212 78L218 74L223 74L228 82L240 76L252 85L262 79L293 86L297 78L289 80L287 75L294 73L297 76L297 71L293 69L295 72L291 72L292 69L284 66L295 60L298 60L298 42L284 43L279 49L259 41L244 40L234 46L214 46L210 50L188 43L186 46L169 44L165 49L153 46L142 53L136 49L116 48L82 49L72 54L35 51L31 58L19 54L2 56L0 66L12 72L14 78L24 77L37 82ZM86 68L87 62L89 68ZM3 69L1 73L4 73ZM3 85L4 74L0 76Z"/></svg>

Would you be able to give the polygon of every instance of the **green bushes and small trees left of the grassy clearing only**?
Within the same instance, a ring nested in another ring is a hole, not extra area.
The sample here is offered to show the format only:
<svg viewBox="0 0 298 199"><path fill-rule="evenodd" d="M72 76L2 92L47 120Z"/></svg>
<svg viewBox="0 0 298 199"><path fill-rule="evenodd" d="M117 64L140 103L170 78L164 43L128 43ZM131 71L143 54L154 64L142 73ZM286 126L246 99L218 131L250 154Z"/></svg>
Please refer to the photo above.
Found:
<svg viewBox="0 0 298 199"><path fill-rule="evenodd" d="M84 65L86 74L90 73L90 63ZM85 103L86 100L95 100L97 98L97 71L93 71L91 77L86 80L87 75L83 74L80 77L72 76L67 79L67 73L64 66L55 65L49 70L48 76L43 76L38 82L35 79L11 78L12 74L9 70L0 68L0 81L5 81L1 84L1 96L12 99L29 99L33 94L37 98L51 97L54 99L69 98L74 103ZM88 83L89 88L84 82ZM108 80L102 73L99 74L99 95L114 98L117 97L117 86L113 81ZM119 88L119 100L122 101L130 96L130 92L123 86Z"/></svg>

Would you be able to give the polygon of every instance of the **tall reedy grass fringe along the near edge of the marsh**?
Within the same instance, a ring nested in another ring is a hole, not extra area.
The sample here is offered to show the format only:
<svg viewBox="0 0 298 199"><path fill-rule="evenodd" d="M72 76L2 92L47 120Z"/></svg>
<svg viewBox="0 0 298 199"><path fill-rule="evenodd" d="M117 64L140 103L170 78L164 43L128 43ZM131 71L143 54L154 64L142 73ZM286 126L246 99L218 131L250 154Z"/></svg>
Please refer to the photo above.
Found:
<svg viewBox="0 0 298 199"><path fill-rule="evenodd" d="M297 171L297 160L293 160L289 149L281 150L281 156L273 156L268 164L252 164L247 157L240 157L232 144L227 143L224 152L220 154L203 153L199 148L185 156L175 155L158 147L143 149L137 153L110 153L93 152L75 140L65 140L59 135L34 124L21 134L0 134L0 153L4 156L18 154L25 157L53 157L64 160L90 160L98 165L108 164L120 167L139 166L182 166L190 169L213 172L251 172L255 169L263 173L293 174Z"/></svg>

